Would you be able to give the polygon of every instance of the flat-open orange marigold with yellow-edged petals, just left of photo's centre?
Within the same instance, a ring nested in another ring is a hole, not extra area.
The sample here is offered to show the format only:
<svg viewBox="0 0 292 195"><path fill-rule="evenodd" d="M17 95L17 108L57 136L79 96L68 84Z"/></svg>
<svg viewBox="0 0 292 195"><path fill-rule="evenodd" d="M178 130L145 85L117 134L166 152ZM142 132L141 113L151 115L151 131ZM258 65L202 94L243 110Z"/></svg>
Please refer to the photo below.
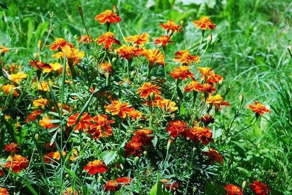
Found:
<svg viewBox="0 0 292 195"><path fill-rule="evenodd" d="M111 105L107 106L106 112L111 112L111 115L119 115L121 118L125 118L128 113L133 112L135 108L129 107L128 102L121 103L118 100L111 101Z"/></svg>

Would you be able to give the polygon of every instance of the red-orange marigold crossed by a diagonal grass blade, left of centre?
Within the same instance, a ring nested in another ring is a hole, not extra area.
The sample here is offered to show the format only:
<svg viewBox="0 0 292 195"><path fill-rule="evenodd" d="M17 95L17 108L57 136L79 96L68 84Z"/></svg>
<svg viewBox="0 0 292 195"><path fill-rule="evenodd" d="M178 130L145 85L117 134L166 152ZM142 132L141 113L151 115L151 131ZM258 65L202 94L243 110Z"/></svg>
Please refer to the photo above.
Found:
<svg viewBox="0 0 292 195"><path fill-rule="evenodd" d="M77 112L76 114L70 116L69 119L68 119L67 125L68 126L74 125L77 122L79 114L80 113ZM87 116L87 113L84 112L82 117L81 117L81 119L80 119L80 121L76 125L74 131L78 131L79 129L81 129L83 131L87 130L87 127L92 124L90 121L92 121L91 115Z"/></svg>

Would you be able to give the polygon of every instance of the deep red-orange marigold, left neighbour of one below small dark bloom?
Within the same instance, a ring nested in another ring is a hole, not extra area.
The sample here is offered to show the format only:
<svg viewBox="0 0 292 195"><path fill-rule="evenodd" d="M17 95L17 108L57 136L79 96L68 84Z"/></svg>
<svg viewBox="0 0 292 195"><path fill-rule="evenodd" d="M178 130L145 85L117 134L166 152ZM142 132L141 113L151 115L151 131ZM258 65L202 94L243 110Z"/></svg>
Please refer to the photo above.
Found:
<svg viewBox="0 0 292 195"><path fill-rule="evenodd" d="M173 120L168 122L168 126L166 127L166 131L170 131L170 137L177 137L179 134L183 137L186 137L188 130L187 124L180 120Z"/></svg>

